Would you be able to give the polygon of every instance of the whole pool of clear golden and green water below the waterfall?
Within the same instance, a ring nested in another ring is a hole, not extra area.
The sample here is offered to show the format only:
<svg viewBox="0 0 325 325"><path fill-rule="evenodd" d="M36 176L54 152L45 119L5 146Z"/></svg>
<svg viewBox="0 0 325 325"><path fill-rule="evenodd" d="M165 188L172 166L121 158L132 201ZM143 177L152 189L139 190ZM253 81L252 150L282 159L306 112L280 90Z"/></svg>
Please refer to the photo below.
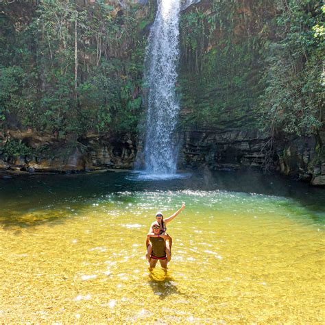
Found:
<svg viewBox="0 0 325 325"><path fill-rule="evenodd" d="M325 321L325 191L253 172L0 180L0 320L143 324ZM156 210L173 237L150 273Z"/></svg>

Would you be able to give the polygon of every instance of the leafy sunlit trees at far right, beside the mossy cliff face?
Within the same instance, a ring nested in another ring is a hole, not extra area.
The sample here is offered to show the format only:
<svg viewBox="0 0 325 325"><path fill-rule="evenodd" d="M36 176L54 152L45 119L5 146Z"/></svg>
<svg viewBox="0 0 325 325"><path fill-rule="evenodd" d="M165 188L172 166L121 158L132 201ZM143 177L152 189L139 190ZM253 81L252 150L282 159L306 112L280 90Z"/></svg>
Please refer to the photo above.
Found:
<svg viewBox="0 0 325 325"><path fill-rule="evenodd" d="M269 43L265 61L265 92L260 120L265 130L287 134L315 134L322 127L322 61L324 36L318 1L277 2L276 40ZM316 34L313 31L316 32ZM322 38L319 40L316 37ZM265 123L267 122L267 123Z"/></svg>

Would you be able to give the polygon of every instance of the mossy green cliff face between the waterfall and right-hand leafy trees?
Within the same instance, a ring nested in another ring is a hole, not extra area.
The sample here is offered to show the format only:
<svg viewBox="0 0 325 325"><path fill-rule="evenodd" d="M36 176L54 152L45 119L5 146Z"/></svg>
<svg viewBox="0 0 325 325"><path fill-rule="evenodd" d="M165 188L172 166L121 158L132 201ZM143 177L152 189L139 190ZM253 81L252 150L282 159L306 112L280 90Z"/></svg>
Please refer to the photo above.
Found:
<svg viewBox="0 0 325 325"><path fill-rule="evenodd" d="M182 120L186 127L223 129L256 124L252 108L263 89L258 83L263 42L261 31L247 21L259 24L258 13L265 1L254 3L256 14L249 18L241 13L245 5L245 1L213 1L207 10L197 8L182 16L179 89L182 107L188 110ZM239 29L237 35L239 26L245 29Z"/></svg>

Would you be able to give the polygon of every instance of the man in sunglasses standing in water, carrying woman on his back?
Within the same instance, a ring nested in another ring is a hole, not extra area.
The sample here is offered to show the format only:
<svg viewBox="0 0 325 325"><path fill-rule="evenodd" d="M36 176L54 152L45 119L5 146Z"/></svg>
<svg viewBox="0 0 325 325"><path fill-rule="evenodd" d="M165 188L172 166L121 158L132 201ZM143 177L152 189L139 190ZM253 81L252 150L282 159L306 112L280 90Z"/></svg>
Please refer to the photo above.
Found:
<svg viewBox="0 0 325 325"><path fill-rule="evenodd" d="M152 254L149 258L149 269L150 271L156 267L157 262L160 262L161 267L164 270L167 270L167 255L166 255L166 239L168 236L160 233L160 224L158 221L154 222L152 225L152 230L154 232L152 234L148 234L147 237L152 244Z"/></svg>

